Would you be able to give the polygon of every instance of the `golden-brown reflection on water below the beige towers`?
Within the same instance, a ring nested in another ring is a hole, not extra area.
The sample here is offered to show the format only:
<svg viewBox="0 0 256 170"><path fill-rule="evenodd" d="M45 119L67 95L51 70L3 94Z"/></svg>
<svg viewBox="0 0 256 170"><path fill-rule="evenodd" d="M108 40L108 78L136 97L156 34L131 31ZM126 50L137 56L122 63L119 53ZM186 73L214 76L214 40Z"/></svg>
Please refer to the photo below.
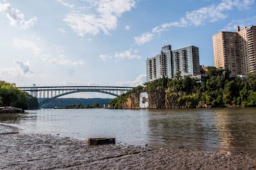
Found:
<svg viewBox="0 0 256 170"><path fill-rule="evenodd" d="M216 122L221 148L244 152L256 151L256 111L218 110ZM254 129L254 130L253 130Z"/></svg>

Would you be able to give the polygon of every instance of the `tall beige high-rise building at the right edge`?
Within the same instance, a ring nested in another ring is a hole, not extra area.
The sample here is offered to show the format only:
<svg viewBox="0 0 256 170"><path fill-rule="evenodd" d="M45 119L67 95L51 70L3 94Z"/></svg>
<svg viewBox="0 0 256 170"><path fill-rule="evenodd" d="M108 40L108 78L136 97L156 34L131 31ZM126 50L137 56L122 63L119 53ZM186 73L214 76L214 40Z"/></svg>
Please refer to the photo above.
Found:
<svg viewBox="0 0 256 170"><path fill-rule="evenodd" d="M237 32L224 32L212 36L214 66L231 71L230 76L256 70L256 26L237 27Z"/></svg>

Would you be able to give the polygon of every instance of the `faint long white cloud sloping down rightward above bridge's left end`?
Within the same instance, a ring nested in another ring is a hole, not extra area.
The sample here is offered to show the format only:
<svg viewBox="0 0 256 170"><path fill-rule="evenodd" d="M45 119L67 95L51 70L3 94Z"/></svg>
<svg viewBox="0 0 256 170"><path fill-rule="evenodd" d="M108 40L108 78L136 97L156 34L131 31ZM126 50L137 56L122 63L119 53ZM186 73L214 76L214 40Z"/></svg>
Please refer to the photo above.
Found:
<svg viewBox="0 0 256 170"><path fill-rule="evenodd" d="M83 65L84 62L82 60L74 61L68 59L61 52L64 51L63 46L56 46L56 53L59 53L57 57L53 57L54 55L50 53L45 53L43 48L40 48L39 45L33 41L27 41L15 38L13 40L13 44L20 49L28 48L32 50L32 53L35 57L40 57L42 61L47 62L49 64L57 64L57 65Z"/></svg>

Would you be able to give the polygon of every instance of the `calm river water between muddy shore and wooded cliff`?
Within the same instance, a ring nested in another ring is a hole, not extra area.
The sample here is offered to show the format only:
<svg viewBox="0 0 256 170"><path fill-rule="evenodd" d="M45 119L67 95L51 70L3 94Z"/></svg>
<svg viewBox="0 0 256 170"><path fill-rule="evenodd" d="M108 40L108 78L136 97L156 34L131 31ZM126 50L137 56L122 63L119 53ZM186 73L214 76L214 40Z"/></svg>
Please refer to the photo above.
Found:
<svg viewBox="0 0 256 170"><path fill-rule="evenodd" d="M37 110L1 114L0 122L24 132L77 139L116 138L129 145L184 146L256 153L256 109Z"/></svg>

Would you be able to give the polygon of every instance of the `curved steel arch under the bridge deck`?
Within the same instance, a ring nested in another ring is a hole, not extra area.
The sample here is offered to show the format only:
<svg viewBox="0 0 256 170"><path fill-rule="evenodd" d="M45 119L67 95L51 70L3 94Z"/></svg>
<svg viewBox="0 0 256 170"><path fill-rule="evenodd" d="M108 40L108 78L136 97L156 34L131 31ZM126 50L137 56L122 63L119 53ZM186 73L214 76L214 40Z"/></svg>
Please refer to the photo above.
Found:
<svg viewBox="0 0 256 170"><path fill-rule="evenodd" d="M75 91L65 92L65 93L63 93L63 94L59 94L59 95L57 95L57 96L48 98L48 99L46 99L46 100L44 100L44 101L42 101L42 102L39 103L39 108L40 108L40 106L42 106L43 104L48 103L49 101L52 101L53 99L56 99L56 98L58 98L58 97L65 96L65 95L68 95L68 94L79 93L79 92L99 92L99 93L109 94L109 95L112 95L112 96L115 96L115 97L120 97L118 94L114 94L114 93L111 93L111 92L106 92L106 91L103 91L103 90L97 90L97 89L75 90Z"/></svg>

